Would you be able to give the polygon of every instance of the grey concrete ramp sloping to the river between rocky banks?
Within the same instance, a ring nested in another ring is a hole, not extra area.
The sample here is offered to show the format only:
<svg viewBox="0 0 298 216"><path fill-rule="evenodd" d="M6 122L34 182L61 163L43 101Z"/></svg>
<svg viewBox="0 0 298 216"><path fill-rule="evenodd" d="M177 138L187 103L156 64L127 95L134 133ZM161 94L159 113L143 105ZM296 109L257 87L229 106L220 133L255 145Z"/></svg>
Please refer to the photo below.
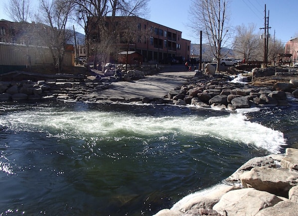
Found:
<svg viewBox="0 0 298 216"><path fill-rule="evenodd" d="M103 97L122 97L126 100L130 98L154 97L162 98L171 90L186 84L194 77L194 71L185 72L181 67L167 67L161 73L146 76L144 79L133 82L115 82L114 88L103 90L97 93ZM174 72L166 72L166 71Z"/></svg>

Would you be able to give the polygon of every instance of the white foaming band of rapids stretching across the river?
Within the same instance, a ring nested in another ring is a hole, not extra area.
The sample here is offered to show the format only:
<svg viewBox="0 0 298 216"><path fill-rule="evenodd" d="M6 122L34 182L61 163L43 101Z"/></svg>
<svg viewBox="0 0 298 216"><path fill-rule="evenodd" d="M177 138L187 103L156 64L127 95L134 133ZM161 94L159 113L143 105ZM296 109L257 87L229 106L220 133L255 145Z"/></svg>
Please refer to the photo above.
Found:
<svg viewBox="0 0 298 216"><path fill-rule="evenodd" d="M252 110L242 110L242 112ZM170 113L169 113L170 114ZM284 134L250 122L241 113L224 116L151 116L103 111L23 111L0 115L0 124L16 131L46 132L59 137L163 136L214 137L279 153Z"/></svg>

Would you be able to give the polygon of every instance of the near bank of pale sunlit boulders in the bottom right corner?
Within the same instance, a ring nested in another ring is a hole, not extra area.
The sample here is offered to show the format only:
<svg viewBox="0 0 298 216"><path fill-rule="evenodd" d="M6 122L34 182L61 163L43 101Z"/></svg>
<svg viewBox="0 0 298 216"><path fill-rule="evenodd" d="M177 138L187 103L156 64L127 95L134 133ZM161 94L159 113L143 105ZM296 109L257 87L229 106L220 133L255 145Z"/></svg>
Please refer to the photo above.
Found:
<svg viewBox="0 0 298 216"><path fill-rule="evenodd" d="M253 158L222 183L191 194L155 216L297 215L298 149Z"/></svg>

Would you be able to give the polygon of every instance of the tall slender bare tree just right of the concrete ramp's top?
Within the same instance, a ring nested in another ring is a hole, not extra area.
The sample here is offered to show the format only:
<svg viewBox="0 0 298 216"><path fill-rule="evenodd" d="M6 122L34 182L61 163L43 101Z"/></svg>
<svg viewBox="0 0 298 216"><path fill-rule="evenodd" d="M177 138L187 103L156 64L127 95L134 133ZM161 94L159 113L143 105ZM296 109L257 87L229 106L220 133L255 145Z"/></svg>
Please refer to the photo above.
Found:
<svg viewBox="0 0 298 216"><path fill-rule="evenodd" d="M230 39L228 3L229 0L191 0L189 26L196 35L200 35L200 31L206 35L217 62L220 62L221 50Z"/></svg>

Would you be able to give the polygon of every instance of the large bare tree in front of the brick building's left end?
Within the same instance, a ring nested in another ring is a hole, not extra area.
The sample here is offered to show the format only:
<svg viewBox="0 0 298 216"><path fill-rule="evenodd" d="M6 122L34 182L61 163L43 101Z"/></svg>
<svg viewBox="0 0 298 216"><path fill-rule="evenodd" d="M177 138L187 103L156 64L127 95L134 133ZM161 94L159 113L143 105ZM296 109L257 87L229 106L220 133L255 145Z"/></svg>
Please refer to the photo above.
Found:
<svg viewBox="0 0 298 216"><path fill-rule="evenodd" d="M119 41L120 33L118 31L121 24L118 20L115 21L115 17L117 15L141 16L148 11L148 1L75 0L76 20L85 28L87 56L92 55L94 57L94 66L96 66L97 61L106 62L111 53L117 52L113 44ZM106 16L111 16L110 26L107 26ZM88 19L89 22L93 23L92 25L88 24Z"/></svg>

